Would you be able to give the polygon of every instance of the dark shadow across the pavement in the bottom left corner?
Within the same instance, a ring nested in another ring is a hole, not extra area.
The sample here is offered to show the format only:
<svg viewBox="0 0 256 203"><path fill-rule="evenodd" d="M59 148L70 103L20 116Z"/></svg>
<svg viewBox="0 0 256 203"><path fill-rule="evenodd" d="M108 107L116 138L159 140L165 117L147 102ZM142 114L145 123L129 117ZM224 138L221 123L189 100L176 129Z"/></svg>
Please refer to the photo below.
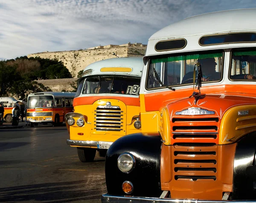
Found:
<svg viewBox="0 0 256 203"><path fill-rule="evenodd" d="M101 195L105 193L105 178L98 179L96 184L94 181L88 183L88 180L79 180L0 188L0 202L52 201L65 203L79 200L84 202L99 200L100 202Z"/></svg>

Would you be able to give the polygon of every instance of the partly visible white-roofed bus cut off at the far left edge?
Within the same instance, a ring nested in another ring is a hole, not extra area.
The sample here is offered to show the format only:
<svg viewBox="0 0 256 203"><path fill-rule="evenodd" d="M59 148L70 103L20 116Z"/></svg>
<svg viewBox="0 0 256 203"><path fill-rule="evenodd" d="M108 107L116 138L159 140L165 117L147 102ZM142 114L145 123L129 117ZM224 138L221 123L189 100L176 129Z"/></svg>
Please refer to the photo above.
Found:
<svg viewBox="0 0 256 203"><path fill-rule="evenodd" d="M12 108L15 103L17 103L16 99L12 97L0 97L0 103L3 105L4 108L4 120L7 123L12 122Z"/></svg>

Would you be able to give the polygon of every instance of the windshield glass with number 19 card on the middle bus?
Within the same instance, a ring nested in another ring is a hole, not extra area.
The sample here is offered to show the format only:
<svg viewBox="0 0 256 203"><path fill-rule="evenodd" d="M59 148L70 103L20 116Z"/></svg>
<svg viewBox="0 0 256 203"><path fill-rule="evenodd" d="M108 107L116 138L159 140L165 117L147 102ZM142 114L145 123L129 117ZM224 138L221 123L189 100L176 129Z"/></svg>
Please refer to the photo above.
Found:
<svg viewBox="0 0 256 203"><path fill-rule="evenodd" d="M140 78L123 76L94 76L86 78L83 94L139 95Z"/></svg>

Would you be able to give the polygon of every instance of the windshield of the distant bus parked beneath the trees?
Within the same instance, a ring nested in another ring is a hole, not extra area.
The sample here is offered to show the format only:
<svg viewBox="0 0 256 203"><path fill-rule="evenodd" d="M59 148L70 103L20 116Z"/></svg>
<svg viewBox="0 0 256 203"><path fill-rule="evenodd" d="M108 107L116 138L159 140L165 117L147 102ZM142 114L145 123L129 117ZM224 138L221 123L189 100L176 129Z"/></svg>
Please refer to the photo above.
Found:
<svg viewBox="0 0 256 203"><path fill-rule="evenodd" d="M28 108L54 107L53 96L29 96Z"/></svg>

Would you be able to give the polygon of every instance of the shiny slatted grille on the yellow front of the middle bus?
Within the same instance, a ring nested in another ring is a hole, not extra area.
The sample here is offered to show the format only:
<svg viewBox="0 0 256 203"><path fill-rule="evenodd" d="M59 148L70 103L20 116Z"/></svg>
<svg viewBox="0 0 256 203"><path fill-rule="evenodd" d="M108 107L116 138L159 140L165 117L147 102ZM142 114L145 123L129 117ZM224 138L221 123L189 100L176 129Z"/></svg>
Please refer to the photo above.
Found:
<svg viewBox="0 0 256 203"><path fill-rule="evenodd" d="M123 111L120 107L98 106L95 110L94 125L96 131L122 131Z"/></svg>

